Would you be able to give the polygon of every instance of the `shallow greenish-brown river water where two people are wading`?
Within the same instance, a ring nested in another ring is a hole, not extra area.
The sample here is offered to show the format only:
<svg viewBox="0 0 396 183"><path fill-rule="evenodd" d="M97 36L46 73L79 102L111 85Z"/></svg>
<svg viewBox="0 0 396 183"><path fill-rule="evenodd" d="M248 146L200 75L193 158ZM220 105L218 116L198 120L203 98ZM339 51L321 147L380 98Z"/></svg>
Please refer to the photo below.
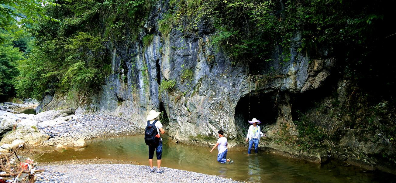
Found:
<svg viewBox="0 0 396 183"><path fill-rule="evenodd" d="M110 158L148 165L148 147L143 136L98 138L87 141L84 149L45 153L42 162ZM234 164L216 161L217 149L194 145L175 144L164 138L162 166L204 174L219 175L253 182L392 182L394 175L366 171L356 166L343 166L340 162L324 165L303 160L287 159L268 152L247 155L246 151L228 151L227 158ZM156 164L154 153L154 166Z"/></svg>

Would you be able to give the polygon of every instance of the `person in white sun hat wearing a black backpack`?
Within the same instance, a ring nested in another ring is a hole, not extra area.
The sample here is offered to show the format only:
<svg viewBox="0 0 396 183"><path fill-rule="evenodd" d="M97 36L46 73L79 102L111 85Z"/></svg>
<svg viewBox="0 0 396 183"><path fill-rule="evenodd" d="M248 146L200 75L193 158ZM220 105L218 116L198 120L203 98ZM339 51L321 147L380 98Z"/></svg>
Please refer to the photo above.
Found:
<svg viewBox="0 0 396 183"><path fill-rule="evenodd" d="M165 133L162 128L160 121L156 120L160 113L151 110L147 116L147 126L145 129L145 143L148 145L148 162L150 164L150 173L154 173L155 167L152 166L152 158L154 157L154 150L157 155L157 174L164 173L161 170L161 159L162 159L162 138L161 134Z"/></svg>

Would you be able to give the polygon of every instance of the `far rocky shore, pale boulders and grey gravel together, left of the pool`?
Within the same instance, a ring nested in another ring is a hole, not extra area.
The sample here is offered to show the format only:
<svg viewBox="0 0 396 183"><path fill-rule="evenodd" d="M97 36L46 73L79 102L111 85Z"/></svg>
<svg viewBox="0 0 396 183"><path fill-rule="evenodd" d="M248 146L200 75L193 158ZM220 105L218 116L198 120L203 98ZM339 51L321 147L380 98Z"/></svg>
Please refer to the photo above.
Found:
<svg viewBox="0 0 396 183"><path fill-rule="evenodd" d="M50 110L34 114L0 111L0 152L18 144L85 147L90 138L142 134L143 128L121 117L74 114L74 109Z"/></svg>

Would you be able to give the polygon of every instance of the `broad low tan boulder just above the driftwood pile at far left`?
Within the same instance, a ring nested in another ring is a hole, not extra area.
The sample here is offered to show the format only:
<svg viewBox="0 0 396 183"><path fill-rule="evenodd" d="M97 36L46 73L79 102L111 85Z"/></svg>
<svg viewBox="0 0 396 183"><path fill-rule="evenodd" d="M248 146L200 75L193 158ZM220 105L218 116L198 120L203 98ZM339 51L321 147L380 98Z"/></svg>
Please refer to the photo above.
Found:
<svg viewBox="0 0 396 183"><path fill-rule="evenodd" d="M48 138L49 135L40 133L35 127L23 126L7 134L0 143L12 144L14 140L23 140L26 141L27 145L41 145Z"/></svg>

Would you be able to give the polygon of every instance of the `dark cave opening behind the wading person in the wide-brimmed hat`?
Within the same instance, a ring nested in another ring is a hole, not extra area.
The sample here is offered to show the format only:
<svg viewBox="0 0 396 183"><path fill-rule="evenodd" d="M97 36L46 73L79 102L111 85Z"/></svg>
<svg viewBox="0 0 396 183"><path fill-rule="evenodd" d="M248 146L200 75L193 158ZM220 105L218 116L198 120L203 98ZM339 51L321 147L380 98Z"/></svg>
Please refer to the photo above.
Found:
<svg viewBox="0 0 396 183"><path fill-rule="evenodd" d="M246 136L249 129L248 121L256 118L261 121L259 126L276 123L278 109L275 106L276 93L254 93L240 98L235 107L234 121L241 136Z"/></svg>

